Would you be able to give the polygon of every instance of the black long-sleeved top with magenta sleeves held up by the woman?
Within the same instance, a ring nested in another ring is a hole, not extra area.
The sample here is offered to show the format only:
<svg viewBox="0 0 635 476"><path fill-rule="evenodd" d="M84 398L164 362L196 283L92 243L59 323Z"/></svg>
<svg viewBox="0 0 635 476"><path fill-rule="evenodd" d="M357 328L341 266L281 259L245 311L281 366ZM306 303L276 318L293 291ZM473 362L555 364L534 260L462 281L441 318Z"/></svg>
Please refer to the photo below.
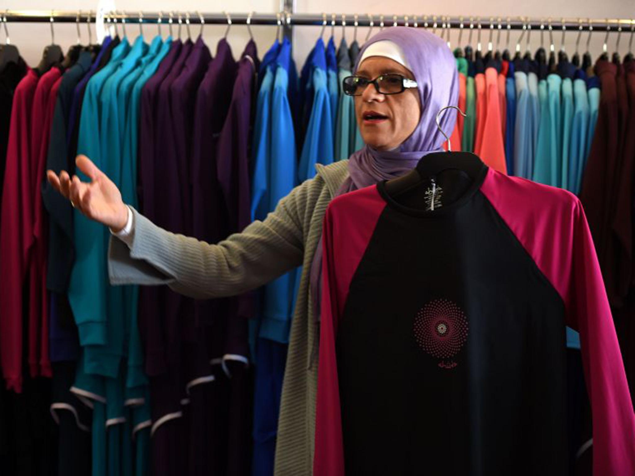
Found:
<svg viewBox="0 0 635 476"><path fill-rule="evenodd" d="M575 195L485 167L422 211L380 182L333 199L323 256L315 476L358 473L369 451L378 472L566 474L565 326L582 343L593 473L635 474L629 388ZM391 452L393 421L408 438ZM519 452L532 454L523 468Z"/></svg>

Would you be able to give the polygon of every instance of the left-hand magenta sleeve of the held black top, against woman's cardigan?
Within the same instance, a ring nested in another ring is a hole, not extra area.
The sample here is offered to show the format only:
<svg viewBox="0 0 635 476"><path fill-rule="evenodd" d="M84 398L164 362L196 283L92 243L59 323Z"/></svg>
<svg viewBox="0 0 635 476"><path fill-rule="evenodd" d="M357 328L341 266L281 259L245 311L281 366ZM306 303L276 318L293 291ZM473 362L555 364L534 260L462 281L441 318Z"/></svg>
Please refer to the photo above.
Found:
<svg viewBox="0 0 635 476"><path fill-rule="evenodd" d="M384 206L373 186L340 195L324 215L314 476L345 473L335 338L352 277Z"/></svg>

